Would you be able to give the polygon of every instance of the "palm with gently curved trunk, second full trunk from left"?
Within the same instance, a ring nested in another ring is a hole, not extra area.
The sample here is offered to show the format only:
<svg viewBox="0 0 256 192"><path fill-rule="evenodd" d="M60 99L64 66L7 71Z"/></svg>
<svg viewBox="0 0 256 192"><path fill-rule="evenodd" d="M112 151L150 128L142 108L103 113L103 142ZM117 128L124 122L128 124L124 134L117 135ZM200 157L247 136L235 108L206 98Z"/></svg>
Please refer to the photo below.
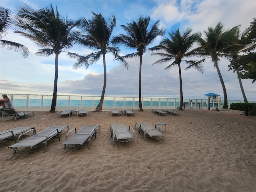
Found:
<svg viewBox="0 0 256 192"><path fill-rule="evenodd" d="M77 69L81 66L85 66L86 69L93 63L97 62L100 57L103 57L103 67L104 67L104 84L102 89L102 94L100 97L100 102L96 107L95 112L99 112L102 110L104 94L106 90L106 81L107 81L107 73L106 73L106 53L111 53L114 55L114 60L120 61L126 68L128 65L126 61L119 56L120 50L116 47L111 47L111 34L113 28L116 26L116 18L114 15L109 17L107 20L102 16L102 14L96 14L92 12L92 19L86 20L85 18L81 19L80 28L86 33L83 34L80 38L78 38L77 43L81 46L85 46L87 48L99 50L98 52L93 52L86 56L79 56L76 54L70 55L73 58L78 58L76 64L74 64L73 68Z"/></svg>

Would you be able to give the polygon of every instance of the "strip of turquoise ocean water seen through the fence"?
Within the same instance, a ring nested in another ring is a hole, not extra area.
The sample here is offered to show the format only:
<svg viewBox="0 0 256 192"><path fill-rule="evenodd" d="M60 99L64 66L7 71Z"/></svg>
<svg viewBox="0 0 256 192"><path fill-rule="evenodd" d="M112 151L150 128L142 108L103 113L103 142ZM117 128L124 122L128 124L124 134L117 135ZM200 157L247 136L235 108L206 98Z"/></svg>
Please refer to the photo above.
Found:
<svg viewBox="0 0 256 192"><path fill-rule="evenodd" d="M26 99L14 99L13 100L13 106L26 106ZM56 106L98 106L100 100L70 100L70 103L68 105L68 100L60 99L57 100ZM175 103L174 102L168 102L169 107L174 107ZM29 99L28 100L28 106L51 106L52 105L52 100L51 99L44 99L43 104L42 100L40 99ZM106 107L138 107L139 102L138 101L114 101L114 100L104 100L103 106ZM153 106L153 107L166 107L167 106L167 101L152 101L152 105L150 101L143 101L143 106ZM176 106L179 106L179 102L176 102Z"/></svg>

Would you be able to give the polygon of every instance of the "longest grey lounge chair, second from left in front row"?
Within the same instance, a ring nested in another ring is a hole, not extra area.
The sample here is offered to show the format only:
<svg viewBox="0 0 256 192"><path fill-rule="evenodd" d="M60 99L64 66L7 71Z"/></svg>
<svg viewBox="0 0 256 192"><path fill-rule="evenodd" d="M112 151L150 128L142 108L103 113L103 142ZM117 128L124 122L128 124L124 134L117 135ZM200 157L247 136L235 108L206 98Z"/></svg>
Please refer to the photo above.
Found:
<svg viewBox="0 0 256 192"><path fill-rule="evenodd" d="M60 140L60 134L65 128L69 128L68 125L54 125L50 126L41 132L30 136L29 138L26 138L22 140L21 142L18 142L16 144L13 144L9 146L8 148L11 148L14 150L14 155L16 154L16 151L23 151L26 150L27 148L32 148L40 143L45 143L44 144L44 152L46 152L46 146L47 146L47 141L53 138L54 136L58 136L58 139ZM68 132L68 131L67 131ZM22 149L17 149L17 147L23 147Z"/></svg>

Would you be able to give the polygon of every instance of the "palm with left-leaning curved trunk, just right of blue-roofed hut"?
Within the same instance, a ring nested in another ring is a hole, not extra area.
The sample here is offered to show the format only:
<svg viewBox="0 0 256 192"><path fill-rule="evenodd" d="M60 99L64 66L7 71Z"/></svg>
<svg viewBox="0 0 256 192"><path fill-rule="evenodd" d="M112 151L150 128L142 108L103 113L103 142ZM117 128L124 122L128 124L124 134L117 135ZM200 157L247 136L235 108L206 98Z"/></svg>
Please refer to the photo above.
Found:
<svg viewBox="0 0 256 192"><path fill-rule="evenodd" d="M224 31L224 25L219 22L215 28L208 27L208 31L204 31L206 35L205 40L202 38L198 39L198 43L201 46L198 56L209 56L212 58L214 67L217 69L224 93L223 108L226 109L228 108L228 97L218 64L221 57L230 58L230 51L236 46L239 46L234 38L234 34L237 32L238 28L239 26L235 26L230 30Z"/></svg>

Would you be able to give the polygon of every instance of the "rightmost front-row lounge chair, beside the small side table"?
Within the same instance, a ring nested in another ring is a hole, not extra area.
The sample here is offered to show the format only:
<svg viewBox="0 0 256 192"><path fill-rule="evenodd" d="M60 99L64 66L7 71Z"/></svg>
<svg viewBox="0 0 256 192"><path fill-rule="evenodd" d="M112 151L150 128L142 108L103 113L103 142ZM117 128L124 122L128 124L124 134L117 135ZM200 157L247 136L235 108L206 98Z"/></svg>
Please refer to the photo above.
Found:
<svg viewBox="0 0 256 192"><path fill-rule="evenodd" d="M138 125L139 130L137 130L136 126ZM159 130L158 130L158 129ZM160 128L162 132L160 132ZM152 126L149 122L136 122L135 123L135 130L140 134L140 130L144 132L144 141L146 140L146 134L148 134L150 137L155 139L163 138L164 140L164 134L163 129L159 125L156 124L156 127Z"/></svg>

